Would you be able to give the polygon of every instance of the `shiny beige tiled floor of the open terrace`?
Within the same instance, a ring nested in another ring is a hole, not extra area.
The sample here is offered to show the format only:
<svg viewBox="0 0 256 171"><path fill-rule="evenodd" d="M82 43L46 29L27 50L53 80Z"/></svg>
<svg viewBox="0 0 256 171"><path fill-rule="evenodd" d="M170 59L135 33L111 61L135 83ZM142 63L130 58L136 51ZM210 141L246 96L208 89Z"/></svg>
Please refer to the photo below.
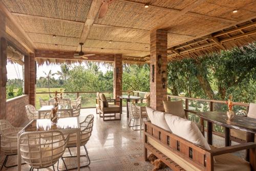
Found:
<svg viewBox="0 0 256 171"><path fill-rule="evenodd" d="M133 131L128 127L128 119L126 116L126 108L123 108L121 121L105 121L99 115L96 115L95 109L83 109L81 115L86 116L93 114L94 126L93 133L88 142L87 149L91 159L89 167L81 168L81 170L152 170L153 166L149 162L143 160L143 131ZM224 140L214 136L214 144L223 146ZM75 148L72 153L75 154ZM81 148L81 154L84 154ZM69 155L68 150L65 155ZM0 161L3 163L4 155L1 154ZM11 156L8 164L16 163L16 156ZM61 161L61 160L60 160ZM68 167L76 165L76 158L66 158ZM62 161L60 162L62 168ZM84 157L81 158L81 165L86 164ZM29 170L27 164L22 166L22 170ZM55 164L55 169L57 164ZM17 167L3 170L17 170ZM41 170L53 170L52 167ZM74 169L75 170L75 169ZM162 170L170 170L165 168Z"/></svg>

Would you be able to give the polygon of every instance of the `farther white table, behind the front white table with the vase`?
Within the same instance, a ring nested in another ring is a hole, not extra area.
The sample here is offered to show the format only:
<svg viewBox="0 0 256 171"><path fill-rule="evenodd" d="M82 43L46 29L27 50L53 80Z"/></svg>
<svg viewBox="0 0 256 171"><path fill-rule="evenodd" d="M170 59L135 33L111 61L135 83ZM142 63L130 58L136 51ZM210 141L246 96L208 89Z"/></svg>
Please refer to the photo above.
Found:
<svg viewBox="0 0 256 171"><path fill-rule="evenodd" d="M53 105L44 105L38 110L38 118L41 118L41 114L51 112ZM58 112L68 112L73 117L73 107L71 104L58 105Z"/></svg>

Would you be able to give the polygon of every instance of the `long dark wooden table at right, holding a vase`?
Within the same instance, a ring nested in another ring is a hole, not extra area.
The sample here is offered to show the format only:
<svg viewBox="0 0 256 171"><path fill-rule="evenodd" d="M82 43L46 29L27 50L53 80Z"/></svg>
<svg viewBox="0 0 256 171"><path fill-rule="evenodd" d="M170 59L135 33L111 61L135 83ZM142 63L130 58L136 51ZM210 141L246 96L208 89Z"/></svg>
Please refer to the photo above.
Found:
<svg viewBox="0 0 256 171"><path fill-rule="evenodd" d="M207 141L212 145L212 123L225 127L225 146L230 146L230 129L236 129L246 132L246 141L254 142L254 134L256 133L256 119L245 116L234 116L228 119L226 112L191 112L207 121ZM246 159L249 159L247 151Z"/></svg>

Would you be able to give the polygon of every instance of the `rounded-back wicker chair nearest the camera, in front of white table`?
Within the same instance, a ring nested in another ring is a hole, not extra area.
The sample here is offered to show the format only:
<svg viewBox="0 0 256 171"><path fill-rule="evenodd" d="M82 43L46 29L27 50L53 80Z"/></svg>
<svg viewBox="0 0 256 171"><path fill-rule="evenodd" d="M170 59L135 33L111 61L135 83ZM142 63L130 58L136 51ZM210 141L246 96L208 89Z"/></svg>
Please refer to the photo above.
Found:
<svg viewBox="0 0 256 171"><path fill-rule="evenodd" d="M60 131L25 132L19 137L20 154L32 170L50 166L54 169L54 164L62 158L68 141L69 135L64 137Z"/></svg>

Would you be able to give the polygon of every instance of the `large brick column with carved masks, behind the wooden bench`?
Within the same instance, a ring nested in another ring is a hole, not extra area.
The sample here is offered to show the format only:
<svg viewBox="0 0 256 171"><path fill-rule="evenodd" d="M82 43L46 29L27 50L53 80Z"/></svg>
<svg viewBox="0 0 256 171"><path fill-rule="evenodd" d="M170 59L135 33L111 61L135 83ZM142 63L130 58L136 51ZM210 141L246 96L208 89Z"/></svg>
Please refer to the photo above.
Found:
<svg viewBox="0 0 256 171"><path fill-rule="evenodd" d="M158 56L161 55L162 65L159 73ZM154 65L154 82L152 80L152 66ZM167 73L167 31L156 30L150 35L150 106L163 111L162 100L167 100L167 82L162 87L162 71Z"/></svg>

